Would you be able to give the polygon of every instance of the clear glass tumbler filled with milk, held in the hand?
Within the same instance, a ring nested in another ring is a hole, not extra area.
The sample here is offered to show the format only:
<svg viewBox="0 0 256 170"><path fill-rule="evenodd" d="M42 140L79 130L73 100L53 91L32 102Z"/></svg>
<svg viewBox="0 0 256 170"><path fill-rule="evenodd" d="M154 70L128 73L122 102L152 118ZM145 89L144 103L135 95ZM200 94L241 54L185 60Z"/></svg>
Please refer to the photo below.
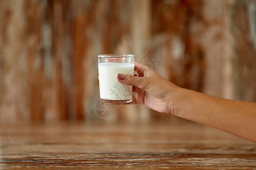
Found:
<svg viewBox="0 0 256 170"><path fill-rule="evenodd" d="M117 74L134 74L134 55L101 54L98 55L98 79L100 98L105 103L130 103L133 86L117 81Z"/></svg>

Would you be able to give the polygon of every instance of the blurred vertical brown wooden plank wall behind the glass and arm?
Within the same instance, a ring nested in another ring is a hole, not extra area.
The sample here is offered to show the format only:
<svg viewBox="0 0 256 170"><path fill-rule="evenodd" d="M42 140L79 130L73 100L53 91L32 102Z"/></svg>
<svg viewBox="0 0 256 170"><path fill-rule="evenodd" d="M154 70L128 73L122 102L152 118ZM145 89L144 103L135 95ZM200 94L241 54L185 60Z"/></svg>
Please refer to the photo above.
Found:
<svg viewBox="0 0 256 170"><path fill-rule="evenodd" d="M97 54L151 52L181 87L256 101L256 1L0 1L0 122L170 120L144 106L97 116Z"/></svg>

